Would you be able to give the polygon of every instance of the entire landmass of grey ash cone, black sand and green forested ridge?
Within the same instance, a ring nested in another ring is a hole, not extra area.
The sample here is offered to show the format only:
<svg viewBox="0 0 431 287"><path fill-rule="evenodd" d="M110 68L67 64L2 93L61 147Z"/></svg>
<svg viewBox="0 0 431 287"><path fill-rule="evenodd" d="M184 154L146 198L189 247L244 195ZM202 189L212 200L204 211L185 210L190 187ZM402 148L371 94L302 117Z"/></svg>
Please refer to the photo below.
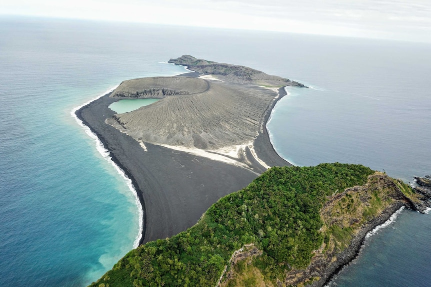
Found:
<svg viewBox="0 0 431 287"><path fill-rule="evenodd" d="M418 178L421 187L412 189L361 165L295 167L279 158L265 124L282 88L302 84L188 55L169 62L195 73L124 81L77 112L132 179L144 208L142 244L91 286L323 286L395 211L407 206L423 212L429 206L427 178ZM161 100L109 113L106 105L119 98ZM130 156L153 166L139 167ZM187 172L170 177L163 164ZM207 172L199 177L190 173L202 168ZM165 178L142 179L155 172ZM170 180L179 187L172 188ZM157 202L148 187L165 201ZM208 196L209 202L199 199ZM178 209L173 202L181 197L189 206ZM193 210L205 204L196 218ZM153 217L151 206L167 217ZM169 228L164 221L175 217L187 222Z"/></svg>

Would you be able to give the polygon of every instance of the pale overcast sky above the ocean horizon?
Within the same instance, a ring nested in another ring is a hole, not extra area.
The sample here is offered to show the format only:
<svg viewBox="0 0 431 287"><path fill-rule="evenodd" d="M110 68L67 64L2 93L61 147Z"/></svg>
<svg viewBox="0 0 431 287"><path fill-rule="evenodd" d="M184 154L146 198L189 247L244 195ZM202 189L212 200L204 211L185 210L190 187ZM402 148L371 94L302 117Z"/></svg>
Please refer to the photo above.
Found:
<svg viewBox="0 0 431 287"><path fill-rule="evenodd" d="M431 0L8 0L0 13L431 42Z"/></svg>

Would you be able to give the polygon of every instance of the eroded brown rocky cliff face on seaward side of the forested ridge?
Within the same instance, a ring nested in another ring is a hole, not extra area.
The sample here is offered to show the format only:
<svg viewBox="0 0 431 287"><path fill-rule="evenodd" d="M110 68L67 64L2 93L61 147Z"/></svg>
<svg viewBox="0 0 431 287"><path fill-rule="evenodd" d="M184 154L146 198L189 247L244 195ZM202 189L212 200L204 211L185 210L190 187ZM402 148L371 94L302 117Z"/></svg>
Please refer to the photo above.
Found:
<svg viewBox="0 0 431 287"><path fill-rule="evenodd" d="M244 280L254 282L256 286L323 286L354 259L368 232L387 221L401 207L411 207L411 199L404 193L410 193L408 197L413 198L416 195L404 189L402 183L375 173L368 177L365 185L327 197L320 211L324 222L320 232L325 239L305 269L292 268L285 271L284 278L271 279L264 276L264 270L251 257L244 256L242 263L241 257L232 262L219 286L244 286Z"/></svg>

